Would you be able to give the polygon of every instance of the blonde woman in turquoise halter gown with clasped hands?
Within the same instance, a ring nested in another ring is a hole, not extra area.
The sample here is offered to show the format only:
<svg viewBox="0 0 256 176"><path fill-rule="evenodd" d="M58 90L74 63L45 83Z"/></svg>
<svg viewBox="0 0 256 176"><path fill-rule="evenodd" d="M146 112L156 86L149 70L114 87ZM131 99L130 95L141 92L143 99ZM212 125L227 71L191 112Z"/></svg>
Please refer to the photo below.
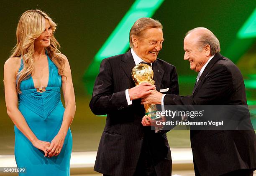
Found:
<svg viewBox="0 0 256 176"><path fill-rule="evenodd" d="M15 124L15 160L26 176L69 175L69 126L76 106L69 62L58 50L55 30L45 12L24 12L17 44L4 66L7 113Z"/></svg>

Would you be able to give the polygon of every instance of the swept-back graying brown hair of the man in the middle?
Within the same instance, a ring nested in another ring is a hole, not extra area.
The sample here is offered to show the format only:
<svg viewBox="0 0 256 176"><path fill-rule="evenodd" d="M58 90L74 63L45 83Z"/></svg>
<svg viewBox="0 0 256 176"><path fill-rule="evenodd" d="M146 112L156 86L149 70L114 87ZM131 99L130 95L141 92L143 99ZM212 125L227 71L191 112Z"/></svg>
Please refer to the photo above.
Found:
<svg viewBox="0 0 256 176"><path fill-rule="evenodd" d="M130 30L130 47L133 47L133 37L141 37L143 35L143 32L146 29L149 28L160 28L161 30L163 29L163 25L161 24L161 22L159 22L158 20L154 20L152 18L148 18L148 17L143 17L138 19L133 26L131 27Z"/></svg>

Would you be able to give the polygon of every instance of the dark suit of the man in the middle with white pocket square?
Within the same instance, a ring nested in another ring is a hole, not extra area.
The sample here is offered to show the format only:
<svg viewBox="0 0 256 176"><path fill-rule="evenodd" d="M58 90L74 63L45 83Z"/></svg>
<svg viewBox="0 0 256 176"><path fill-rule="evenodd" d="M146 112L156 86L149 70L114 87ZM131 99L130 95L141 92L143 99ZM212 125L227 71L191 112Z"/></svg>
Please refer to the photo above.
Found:
<svg viewBox="0 0 256 176"><path fill-rule="evenodd" d="M171 153L166 134L156 134L141 124L145 109L141 100L128 106L125 89L135 87L131 71L135 66L131 50L102 60L95 81L90 108L96 115L107 114L94 170L111 176L133 176L143 142L148 146L158 176L171 175ZM176 68L161 60L153 63L156 89L169 87L179 94Z"/></svg>

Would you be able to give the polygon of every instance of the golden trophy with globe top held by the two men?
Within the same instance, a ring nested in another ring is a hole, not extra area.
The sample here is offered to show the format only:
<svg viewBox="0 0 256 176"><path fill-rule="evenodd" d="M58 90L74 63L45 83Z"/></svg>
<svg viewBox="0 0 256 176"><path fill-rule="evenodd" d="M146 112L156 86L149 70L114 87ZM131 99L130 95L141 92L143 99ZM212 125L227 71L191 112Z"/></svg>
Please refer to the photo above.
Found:
<svg viewBox="0 0 256 176"><path fill-rule="evenodd" d="M132 77L135 85L139 85L143 82L150 83L152 85L155 84L153 80L154 72L153 69L148 64L138 64L133 67ZM152 120L161 119L156 117L156 104L144 104L144 108L146 110L146 119L151 118Z"/></svg>

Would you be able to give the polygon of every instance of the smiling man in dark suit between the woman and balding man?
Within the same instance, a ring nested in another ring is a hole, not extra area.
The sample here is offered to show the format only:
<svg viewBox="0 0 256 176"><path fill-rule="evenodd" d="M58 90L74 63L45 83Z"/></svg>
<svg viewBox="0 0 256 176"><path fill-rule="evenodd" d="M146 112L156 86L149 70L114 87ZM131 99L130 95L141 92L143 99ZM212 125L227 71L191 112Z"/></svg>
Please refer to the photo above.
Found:
<svg viewBox="0 0 256 176"><path fill-rule="evenodd" d="M141 97L154 89L179 94L175 67L157 58L163 41L161 23L140 18L130 30L131 50L100 64L90 108L96 115L107 114L94 167L104 176L171 176L166 134L141 124L145 114ZM154 86L135 86L131 72L141 62L151 65Z"/></svg>

